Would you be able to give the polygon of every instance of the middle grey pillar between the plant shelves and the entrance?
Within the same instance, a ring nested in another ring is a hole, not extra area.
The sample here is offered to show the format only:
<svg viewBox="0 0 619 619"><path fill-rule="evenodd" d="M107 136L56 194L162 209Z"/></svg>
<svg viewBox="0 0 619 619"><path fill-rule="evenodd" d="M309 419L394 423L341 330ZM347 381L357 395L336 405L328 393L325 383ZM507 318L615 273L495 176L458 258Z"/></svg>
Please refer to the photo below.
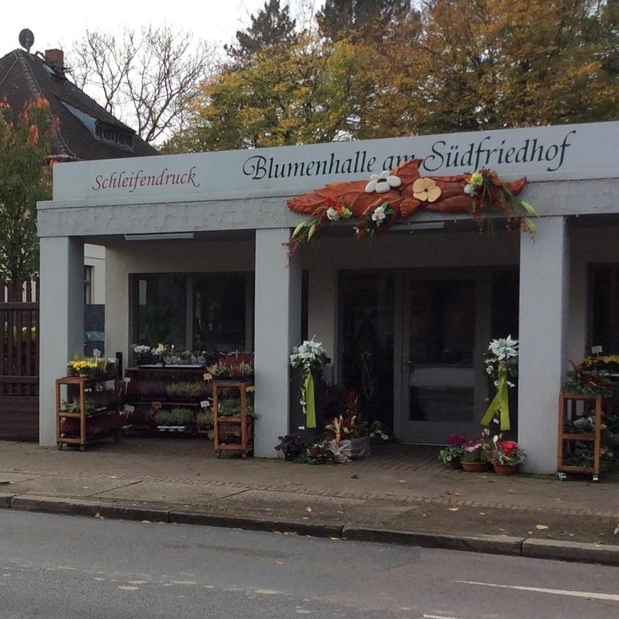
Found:
<svg viewBox="0 0 619 619"><path fill-rule="evenodd" d="M290 349L301 337L301 264L286 259L288 239L288 228L256 230L254 452L263 457L288 433Z"/></svg>

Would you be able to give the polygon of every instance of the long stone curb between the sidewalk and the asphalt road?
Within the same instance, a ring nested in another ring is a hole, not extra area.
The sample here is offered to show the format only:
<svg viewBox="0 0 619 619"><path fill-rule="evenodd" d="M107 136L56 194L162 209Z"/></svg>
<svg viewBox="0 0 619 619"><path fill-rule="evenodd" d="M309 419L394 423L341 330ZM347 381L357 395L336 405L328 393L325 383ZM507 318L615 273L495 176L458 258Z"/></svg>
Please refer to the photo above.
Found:
<svg viewBox="0 0 619 619"><path fill-rule="evenodd" d="M85 499L62 499L35 495L16 496L6 493L0 493L0 508L62 515L99 516L118 520L197 524L268 533L297 533L298 535L309 535L311 537L329 537L357 542L400 544L421 548L443 548L453 551L619 566L619 546L560 542L551 539L525 539L502 535L420 533L351 524L287 521L209 514L205 512L158 510L138 506L123 506L117 503L87 501Z"/></svg>

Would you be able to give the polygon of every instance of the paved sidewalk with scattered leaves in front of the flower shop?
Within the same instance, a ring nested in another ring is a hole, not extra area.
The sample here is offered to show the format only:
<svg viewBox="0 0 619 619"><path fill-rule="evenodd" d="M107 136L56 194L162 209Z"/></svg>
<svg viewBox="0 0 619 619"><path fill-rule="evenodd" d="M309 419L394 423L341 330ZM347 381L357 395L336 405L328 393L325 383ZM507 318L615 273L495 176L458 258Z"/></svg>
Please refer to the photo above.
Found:
<svg viewBox="0 0 619 619"><path fill-rule="evenodd" d="M436 447L380 445L309 466L216 459L207 441L123 438L86 452L0 442L0 493L308 526L618 544L619 479L444 468ZM70 501L71 502L71 501ZM15 502L15 506L19 501ZM95 507L93 507L93 510Z"/></svg>

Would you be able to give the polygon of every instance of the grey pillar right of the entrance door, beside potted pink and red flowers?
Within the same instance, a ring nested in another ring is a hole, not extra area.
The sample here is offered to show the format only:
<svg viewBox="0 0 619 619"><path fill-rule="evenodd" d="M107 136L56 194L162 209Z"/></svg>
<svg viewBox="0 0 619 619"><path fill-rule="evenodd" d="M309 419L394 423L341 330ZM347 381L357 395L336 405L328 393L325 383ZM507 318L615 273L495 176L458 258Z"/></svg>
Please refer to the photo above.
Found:
<svg viewBox="0 0 619 619"><path fill-rule="evenodd" d="M535 221L520 246L518 438L526 470L557 470L557 403L567 364L569 237L563 217Z"/></svg>

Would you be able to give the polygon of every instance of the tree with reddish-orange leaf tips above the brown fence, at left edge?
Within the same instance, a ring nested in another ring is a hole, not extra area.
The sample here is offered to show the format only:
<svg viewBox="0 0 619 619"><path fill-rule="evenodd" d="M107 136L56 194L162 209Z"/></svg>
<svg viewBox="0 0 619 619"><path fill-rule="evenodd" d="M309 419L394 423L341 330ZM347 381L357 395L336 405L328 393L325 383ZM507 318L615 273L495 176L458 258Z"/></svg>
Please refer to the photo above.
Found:
<svg viewBox="0 0 619 619"><path fill-rule="evenodd" d="M37 201L51 197L46 163L57 121L41 98L13 116L0 102L0 281L21 290L39 271Z"/></svg>

